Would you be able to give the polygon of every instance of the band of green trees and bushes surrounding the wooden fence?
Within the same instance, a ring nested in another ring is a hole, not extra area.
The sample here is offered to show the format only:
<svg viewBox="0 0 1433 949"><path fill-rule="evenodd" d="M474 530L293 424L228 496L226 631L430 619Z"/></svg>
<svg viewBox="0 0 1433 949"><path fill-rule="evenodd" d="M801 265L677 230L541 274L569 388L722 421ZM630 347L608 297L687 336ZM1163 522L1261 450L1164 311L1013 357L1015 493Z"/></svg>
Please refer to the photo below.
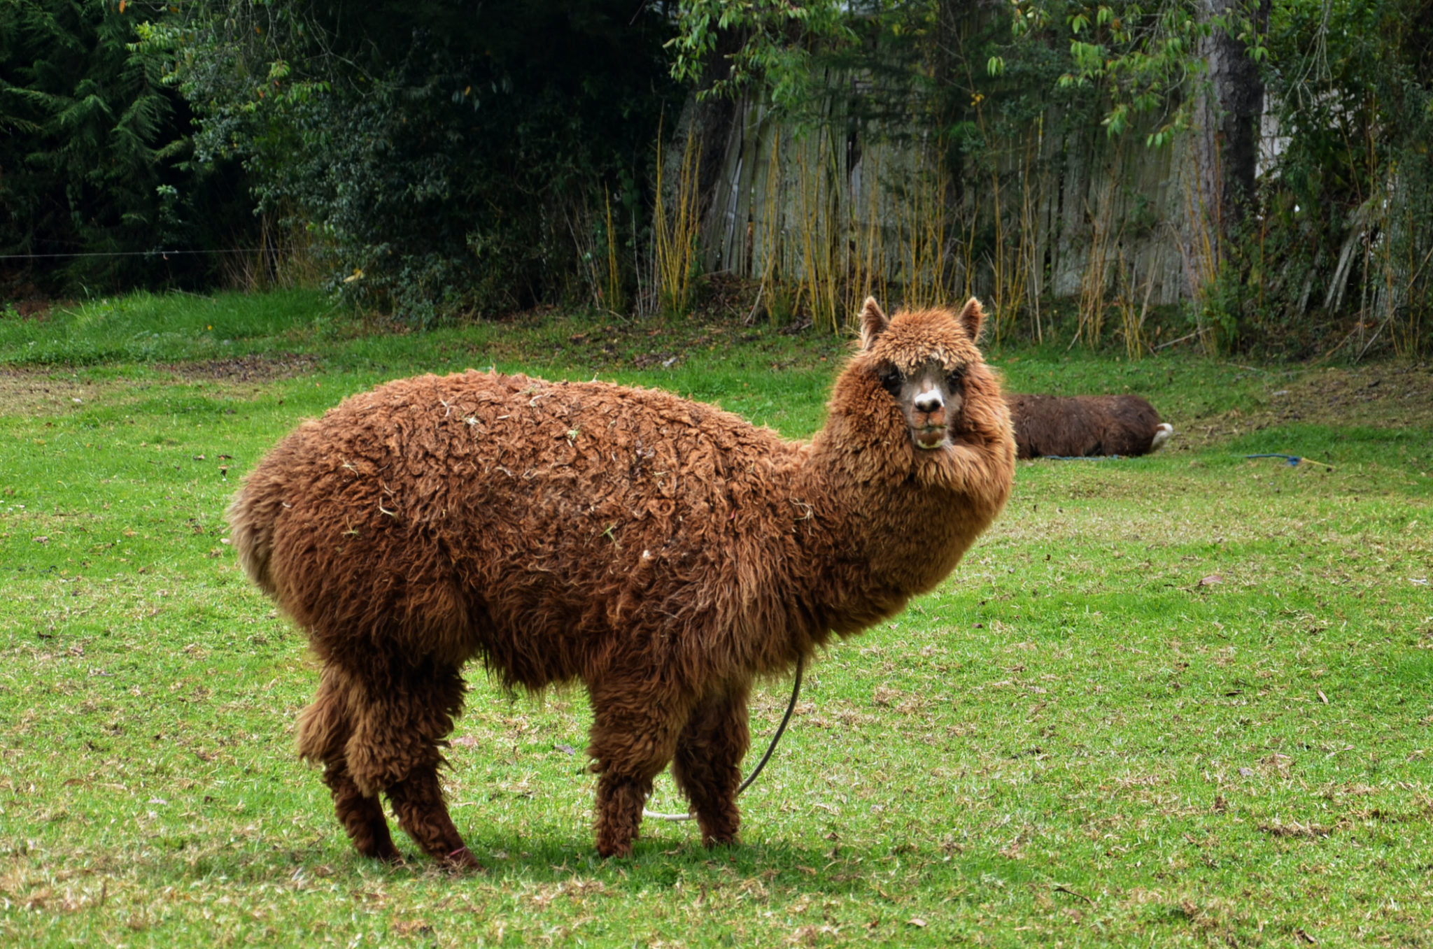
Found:
<svg viewBox="0 0 1433 949"><path fill-rule="evenodd" d="M1035 123L1126 153L1188 135L1211 29L1260 62L1278 153L1182 318L1225 349L1427 349L1433 0L0 0L0 253L133 255L21 268L50 292L201 285L279 233L417 325L642 299L659 129L694 89L919 135L960 200ZM973 259L1017 239L962 235Z"/></svg>

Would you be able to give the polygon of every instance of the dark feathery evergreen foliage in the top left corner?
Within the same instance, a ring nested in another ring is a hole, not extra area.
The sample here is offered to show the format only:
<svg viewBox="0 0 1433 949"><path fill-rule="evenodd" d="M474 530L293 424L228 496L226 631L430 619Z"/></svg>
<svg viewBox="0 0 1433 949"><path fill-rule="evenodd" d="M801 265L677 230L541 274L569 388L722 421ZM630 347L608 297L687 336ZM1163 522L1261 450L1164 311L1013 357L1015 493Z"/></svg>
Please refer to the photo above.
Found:
<svg viewBox="0 0 1433 949"><path fill-rule="evenodd" d="M241 169L188 162L189 110L136 44L155 3L0 3L0 253L52 291L192 283L245 240ZM70 255L103 256L70 256ZM7 271L14 271L11 265Z"/></svg>

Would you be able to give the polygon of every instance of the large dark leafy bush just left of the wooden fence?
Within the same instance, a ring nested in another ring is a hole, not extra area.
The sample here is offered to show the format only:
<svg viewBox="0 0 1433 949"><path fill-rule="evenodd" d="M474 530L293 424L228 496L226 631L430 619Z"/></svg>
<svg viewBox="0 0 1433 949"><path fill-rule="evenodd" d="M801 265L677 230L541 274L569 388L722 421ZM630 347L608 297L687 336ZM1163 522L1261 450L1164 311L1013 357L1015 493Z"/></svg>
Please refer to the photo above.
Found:
<svg viewBox="0 0 1433 949"><path fill-rule="evenodd" d="M428 323L569 295L605 190L631 226L641 190L618 182L645 179L678 102L666 36L625 0L211 0L168 42L199 155L242 159L344 296Z"/></svg>

